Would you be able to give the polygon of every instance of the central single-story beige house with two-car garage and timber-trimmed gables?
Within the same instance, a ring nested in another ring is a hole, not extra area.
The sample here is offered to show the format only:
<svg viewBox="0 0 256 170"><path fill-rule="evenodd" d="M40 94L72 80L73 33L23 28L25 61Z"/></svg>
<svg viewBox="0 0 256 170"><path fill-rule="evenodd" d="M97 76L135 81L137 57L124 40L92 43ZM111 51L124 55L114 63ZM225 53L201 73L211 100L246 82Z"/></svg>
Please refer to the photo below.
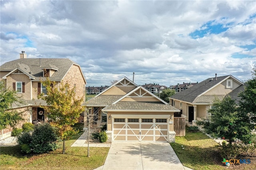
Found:
<svg viewBox="0 0 256 170"><path fill-rule="evenodd" d="M112 141L175 142L173 117L179 109L124 77L86 102L95 126L107 124Z"/></svg>

